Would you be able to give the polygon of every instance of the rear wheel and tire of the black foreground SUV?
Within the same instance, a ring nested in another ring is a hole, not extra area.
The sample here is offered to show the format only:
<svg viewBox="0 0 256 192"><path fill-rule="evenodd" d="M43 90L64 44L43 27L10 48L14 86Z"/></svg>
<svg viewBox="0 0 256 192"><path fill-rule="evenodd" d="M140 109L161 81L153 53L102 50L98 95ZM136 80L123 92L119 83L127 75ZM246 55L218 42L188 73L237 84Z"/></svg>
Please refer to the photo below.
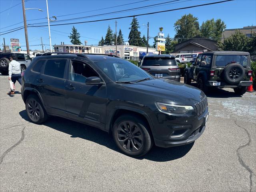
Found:
<svg viewBox="0 0 256 192"><path fill-rule="evenodd" d="M48 119L46 110L44 109L44 106L42 105L42 102L40 101L38 96L28 96L25 104L28 117L33 123L40 124Z"/></svg>

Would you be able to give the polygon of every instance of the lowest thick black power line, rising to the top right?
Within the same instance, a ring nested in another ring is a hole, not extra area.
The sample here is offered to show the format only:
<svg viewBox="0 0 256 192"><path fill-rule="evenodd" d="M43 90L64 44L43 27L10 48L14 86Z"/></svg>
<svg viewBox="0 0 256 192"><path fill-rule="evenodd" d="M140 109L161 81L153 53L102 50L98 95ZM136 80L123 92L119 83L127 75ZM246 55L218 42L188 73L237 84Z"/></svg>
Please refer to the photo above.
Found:
<svg viewBox="0 0 256 192"><path fill-rule="evenodd" d="M175 10L183 10L183 9L195 8L195 7L200 7L200 6L207 6L207 5L219 4L219 3L229 2L229 1L234 1L234 0L224 0L224 1L219 1L219 2L207 3L207 4L200 4L200 5L182 7L182 8L176 8L176 9L170 9L170 10L163 10L163 11L157 11L157 12L150 12L150 13L144 13L144 14L136 14L136 15L130 15L130 16L122 16L122 17L108 18L108 19L101 19L101 20L92 20L92 21L83 21L83 22L73 22L73 23L65 23L65 24L54 24L54 25L51 25L51 26L70 25L70 24L81 24L81 23L99 22L99 21L107 21L107 20L114 20L114 19L129 18L129 17L137 17L137 16L143 16L143 15L151 15L151 14L157 14L157 13L163 13L163 12L171 12L171 11L175 11ZM28 26L28 27L44 27L44 26L47 26L47 25ZM23 28L24 28L24 27L23 27ZM22 29L22 28L21 28L21 29ZM17 30L21 30L21 29L17 29ZM16 30L14 30L14 31L16 31ZM14 32L14 31L11 31L11 32ZM5 33L5 34L11 33L11 32L7 32L7 33ZM4 35L4 34L1 34L1 35Z"/></svg>

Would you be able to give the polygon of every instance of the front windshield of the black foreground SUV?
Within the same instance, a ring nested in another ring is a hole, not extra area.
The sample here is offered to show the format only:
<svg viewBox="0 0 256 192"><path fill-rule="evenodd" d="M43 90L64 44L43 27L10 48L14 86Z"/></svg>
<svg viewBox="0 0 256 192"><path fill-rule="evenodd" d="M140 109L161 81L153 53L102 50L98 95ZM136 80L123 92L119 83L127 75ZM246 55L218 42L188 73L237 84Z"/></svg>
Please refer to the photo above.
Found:
<svg viewBox="0 0 256 192"><path fill-rule="evenodd" d="M152 79L147 72L126 60L105 60L95 63L116 83L135 83Z"/></svg>

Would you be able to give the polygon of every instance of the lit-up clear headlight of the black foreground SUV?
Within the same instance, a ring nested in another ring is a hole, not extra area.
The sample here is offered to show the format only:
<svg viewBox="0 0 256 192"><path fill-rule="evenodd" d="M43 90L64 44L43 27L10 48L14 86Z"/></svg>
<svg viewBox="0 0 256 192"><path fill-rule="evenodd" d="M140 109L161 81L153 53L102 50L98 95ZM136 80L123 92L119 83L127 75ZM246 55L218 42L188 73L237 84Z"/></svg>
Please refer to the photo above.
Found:
<svg viewBox="0 0 256 192"><path fill-rule="evenodd" d="M190 105L176 105L156 102L157 108L164 113L186 113L193 111L194 108Z"/></svg>

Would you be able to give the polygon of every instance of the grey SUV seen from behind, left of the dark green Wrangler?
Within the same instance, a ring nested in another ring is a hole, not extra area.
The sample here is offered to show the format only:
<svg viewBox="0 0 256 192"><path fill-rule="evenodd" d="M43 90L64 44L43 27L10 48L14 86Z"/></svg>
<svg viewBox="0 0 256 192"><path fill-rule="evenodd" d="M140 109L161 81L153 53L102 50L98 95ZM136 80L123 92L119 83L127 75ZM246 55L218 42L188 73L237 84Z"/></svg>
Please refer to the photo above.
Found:
<svg viewBox="0 0 256 192"><path fill-rule="evenodd" d="M145 55L140 68L158 78L180 82L180 68L171 55Z"/></svg>

